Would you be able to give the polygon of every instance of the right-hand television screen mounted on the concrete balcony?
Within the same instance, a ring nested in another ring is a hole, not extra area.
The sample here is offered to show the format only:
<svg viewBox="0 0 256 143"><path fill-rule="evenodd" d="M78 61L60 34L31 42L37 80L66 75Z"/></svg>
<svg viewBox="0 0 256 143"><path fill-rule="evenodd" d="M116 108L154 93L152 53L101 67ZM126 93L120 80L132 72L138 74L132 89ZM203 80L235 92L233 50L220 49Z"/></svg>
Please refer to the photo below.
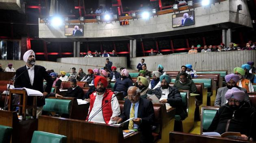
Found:
<svg viewBox="0 0 256 143"><path fill-rule="evenodd" d="M172 27L183 27L195 24L194 11L172 15Z"/></svg>

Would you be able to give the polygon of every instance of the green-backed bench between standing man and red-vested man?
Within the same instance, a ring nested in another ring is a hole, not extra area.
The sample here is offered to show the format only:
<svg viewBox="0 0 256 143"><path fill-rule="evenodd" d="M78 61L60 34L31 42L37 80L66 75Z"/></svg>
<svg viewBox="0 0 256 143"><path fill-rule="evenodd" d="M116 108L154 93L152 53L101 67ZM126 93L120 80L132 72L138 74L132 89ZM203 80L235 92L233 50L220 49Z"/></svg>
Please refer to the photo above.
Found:
<svg viewBox="0 0 256 143"><path fill-rule="evenodd" d="M76 98L73 97L48 97L43 111L55 112L61 116L85 120L88 114L89 104L78 105Z"/></svg>

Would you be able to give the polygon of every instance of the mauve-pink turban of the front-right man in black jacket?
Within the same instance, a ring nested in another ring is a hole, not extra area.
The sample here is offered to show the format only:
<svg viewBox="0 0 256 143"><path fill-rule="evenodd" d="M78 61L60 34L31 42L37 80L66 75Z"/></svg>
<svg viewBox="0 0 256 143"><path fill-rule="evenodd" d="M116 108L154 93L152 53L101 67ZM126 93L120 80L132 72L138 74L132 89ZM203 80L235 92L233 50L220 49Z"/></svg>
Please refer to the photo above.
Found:
<svg viewBox="0 0 256 143"><path fill-rule="evenodd" d="M234 98L236 100L243 101L243 99L245 98L245 92L242 91L242 90L239 90L236 87L233 87L232 89L229 89L226 92L225 98L227 100L230 99L230 98Z"/></svg>

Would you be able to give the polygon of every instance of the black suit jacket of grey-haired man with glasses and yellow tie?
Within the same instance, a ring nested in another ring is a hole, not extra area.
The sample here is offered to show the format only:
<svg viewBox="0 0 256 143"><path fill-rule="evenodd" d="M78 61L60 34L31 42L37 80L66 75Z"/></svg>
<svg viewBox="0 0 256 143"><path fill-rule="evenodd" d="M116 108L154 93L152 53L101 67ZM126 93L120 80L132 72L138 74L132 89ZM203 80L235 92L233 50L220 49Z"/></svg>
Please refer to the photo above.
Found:
<svg viewBox="0 0 256 143"><path fill-rule="evenodd" d="M130 118L130 107L131 102L129 99L126 99L124 102L124 109L122 114L119 116L123 119L123 121L128 120ZM139 107L138 107L138 118L141 118L142 122L139 125L139 131L141 131L141 143L152 143L153 136L152 136L152 129L151 125L154 121L155 114L154 114L154 107L151 101L147 99L140 98L139 99ZM124 124L125 128L128 128L129 122Z"/></svg>

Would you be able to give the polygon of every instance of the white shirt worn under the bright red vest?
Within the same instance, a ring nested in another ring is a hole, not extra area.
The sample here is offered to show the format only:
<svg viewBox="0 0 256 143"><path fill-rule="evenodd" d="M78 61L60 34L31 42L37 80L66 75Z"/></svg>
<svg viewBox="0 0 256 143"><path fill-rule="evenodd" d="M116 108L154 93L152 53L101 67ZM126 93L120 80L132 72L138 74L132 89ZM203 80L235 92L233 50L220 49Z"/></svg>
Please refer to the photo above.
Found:
<svg viewBox="0 0 256 143"><path fill-rule="evenodd" d="M103 95L98 95L98 92L95 92L93 93L95 97L95 101L93 103L93 108L91 109L91 113L89 114L89 118L91 118L91 116L93 116L93 114L98 111L98 109L100 109L102 107L102 99L103 99ZM115 94L112 95L112 97L115 96ZM115 117L115 116L119 116L120 115L120 107L119 107L119 103L117 101L117 97L114 97L113 98L113 101L111 102L111 108L112 108L112 116L111 117ZM89 111L90 111L90 107L89 107ZM88 119L89 119L88 118ZM91 119L92 122L104 122L104 118L103 118L103 113L102 113L102 110L96 114L92 119ZM108 124L111 124L111 120L108 122Z"/></svg>

